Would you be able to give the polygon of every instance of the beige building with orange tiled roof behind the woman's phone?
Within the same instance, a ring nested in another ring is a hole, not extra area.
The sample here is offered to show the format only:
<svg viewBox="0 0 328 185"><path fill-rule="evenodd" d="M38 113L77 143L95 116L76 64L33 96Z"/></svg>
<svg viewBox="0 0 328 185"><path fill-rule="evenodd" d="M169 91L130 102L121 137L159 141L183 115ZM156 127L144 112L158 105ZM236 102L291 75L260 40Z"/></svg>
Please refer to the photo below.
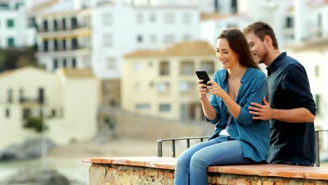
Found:
<svg viewBox="0 0 328 185"><path fill-rule="evenodd" d="M121 79L124 111L174 120L203 118L196 70L212 77L221 64L206 41L177 43L163 50L125 55Z"/></svg>

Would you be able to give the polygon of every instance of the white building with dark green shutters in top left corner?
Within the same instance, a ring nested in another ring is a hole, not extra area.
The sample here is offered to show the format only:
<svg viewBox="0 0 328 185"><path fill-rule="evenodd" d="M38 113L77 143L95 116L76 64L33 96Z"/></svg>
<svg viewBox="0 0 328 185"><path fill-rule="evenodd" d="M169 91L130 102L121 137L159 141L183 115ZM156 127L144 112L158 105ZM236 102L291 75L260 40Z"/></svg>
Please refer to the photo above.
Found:
<svg viewBox="0 0 328 185"><path fill-rule="evenodd" d="M36 44L36 30L27 16L24 0L0 1L0 48Z"/></svg>

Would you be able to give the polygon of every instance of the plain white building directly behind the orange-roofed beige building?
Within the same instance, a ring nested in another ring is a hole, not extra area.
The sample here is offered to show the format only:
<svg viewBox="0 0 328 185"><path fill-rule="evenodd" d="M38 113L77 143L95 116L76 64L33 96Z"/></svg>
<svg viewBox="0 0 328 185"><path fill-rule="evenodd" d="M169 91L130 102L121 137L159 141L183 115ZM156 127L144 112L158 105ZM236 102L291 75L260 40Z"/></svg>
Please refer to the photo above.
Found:
<svg viewBox="0 0 328 185"><path fill-rule="evenodd" d="M199 38L196 6L101 4L93 11L93 70L99 78L117 79L125 53Z"/></svg>

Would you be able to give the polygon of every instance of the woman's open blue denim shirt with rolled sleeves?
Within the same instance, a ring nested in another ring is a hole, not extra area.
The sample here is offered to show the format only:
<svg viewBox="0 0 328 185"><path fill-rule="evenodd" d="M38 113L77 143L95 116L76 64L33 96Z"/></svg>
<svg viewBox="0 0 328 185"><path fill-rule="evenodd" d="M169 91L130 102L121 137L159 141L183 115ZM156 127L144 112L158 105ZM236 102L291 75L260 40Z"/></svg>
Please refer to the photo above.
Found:
<svg viewBox="0 0 328 185"><path fill-rule="evenodd" d="M216 81L221 88L228 93L228 71L220 69L215 72L213 80ZM252 158L255 161L268 159L268 151L270 144L270 124L269 121L253 120L249 113L248 107L251 102L263 104L263 97L268 100L268 81L266 75L259 69L248 67L245 74L240 80L240 88L235 102L240 105L240 114L238 118L232 118L228 134L233 139L240 141L243 156ZM217 112L216 118L206 121L216 124L213 139L219 136L219 132L224 129L227 119L227 107L221 97L211 96L210 103Z"/></svg>

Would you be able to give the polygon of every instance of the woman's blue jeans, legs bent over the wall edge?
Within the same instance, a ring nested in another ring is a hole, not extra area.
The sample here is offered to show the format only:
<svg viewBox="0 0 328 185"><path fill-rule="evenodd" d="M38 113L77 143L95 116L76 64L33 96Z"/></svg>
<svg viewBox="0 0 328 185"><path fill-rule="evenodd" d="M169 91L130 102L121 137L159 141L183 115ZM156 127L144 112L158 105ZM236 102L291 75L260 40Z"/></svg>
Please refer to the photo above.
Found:
<svg viewBox="0 0 328 185"><path fill-rule="evenodd" d="M208 184L207 167L210 165L255 164L242 156L240 143L229 136L219 136L210 141L191 146L179 156L175 166L175 185Z"/></svg>

